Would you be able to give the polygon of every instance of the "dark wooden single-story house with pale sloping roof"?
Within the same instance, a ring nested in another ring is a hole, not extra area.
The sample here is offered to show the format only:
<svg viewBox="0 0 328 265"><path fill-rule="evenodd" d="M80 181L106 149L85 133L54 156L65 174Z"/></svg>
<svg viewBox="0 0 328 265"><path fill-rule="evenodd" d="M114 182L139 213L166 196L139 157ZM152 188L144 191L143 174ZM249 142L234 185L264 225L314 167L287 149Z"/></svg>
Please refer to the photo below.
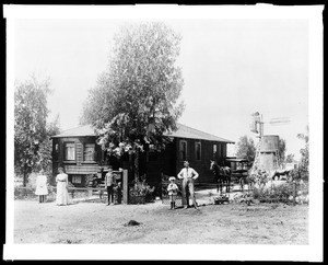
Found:
<svg viewBox="0 0 328 265"><path fill-rule="evenodd" d="M188 160L190 166L199 173L198 182L213 181L210 171L210 160L222 163L226 158L227 143L223 139L188 126L177 124L177 130L172 135L173 141L166 145L165 150L155 151L150 146L139 155L139 174L147 176L152 186L161 183L162 174L176 176ZM119 168L129 170L129 181L133 180L133 159L126 153L120 160L108 157L96 145L96 135L91 126L80 126L59 135L52 136L52 176L55 178L58 168L63 166L69 181L74 186L85 186L89 177L97 175L104 177L107 166L114 170Z"/></svg>

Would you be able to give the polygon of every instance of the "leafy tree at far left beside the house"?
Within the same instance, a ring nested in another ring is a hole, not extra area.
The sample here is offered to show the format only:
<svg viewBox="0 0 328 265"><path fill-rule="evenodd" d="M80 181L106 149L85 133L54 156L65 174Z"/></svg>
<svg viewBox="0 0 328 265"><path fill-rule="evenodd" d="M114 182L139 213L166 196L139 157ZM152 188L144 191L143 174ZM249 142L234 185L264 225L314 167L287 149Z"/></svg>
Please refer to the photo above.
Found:
<svg viewBox="0 0 328 265"><path fill-rule="evenodd" d="M48 136L52 126L47 126L49 93L48 79L39 81L33 76L25 82L15 83L14 169L15 174L23 175L24 186L28 174L43 168L42 158L50 152Z"/></svg>

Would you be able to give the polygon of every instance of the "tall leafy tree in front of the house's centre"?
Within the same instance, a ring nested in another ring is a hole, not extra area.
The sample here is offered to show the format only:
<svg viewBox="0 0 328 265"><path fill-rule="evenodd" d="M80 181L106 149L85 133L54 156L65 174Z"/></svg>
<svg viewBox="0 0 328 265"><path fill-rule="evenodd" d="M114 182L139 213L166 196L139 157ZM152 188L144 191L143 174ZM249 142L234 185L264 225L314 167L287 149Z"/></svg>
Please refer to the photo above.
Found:
<svg viewBox="0 0 328 265"><path fill-rule="evenodd" d="M109 64L84 103L82 123L92 124L109 153L137 154L144 145L162 149L163 132L176 129L184 104L176 66L181 37L160 22L126 25L114 37ZM138 174L138 170L136 170Z"/></svg>

